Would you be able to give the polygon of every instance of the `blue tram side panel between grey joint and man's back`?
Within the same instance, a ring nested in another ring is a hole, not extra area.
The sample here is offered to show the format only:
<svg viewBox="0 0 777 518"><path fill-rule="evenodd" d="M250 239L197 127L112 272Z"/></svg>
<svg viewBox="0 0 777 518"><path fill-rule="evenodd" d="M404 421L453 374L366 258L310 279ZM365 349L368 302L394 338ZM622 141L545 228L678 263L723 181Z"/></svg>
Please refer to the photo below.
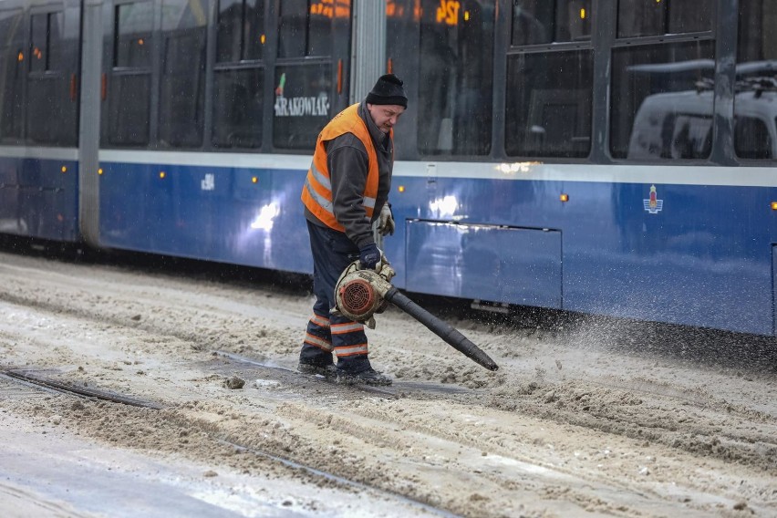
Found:
<svg viewBox="0 0 777 518"><path fill-rule="evenodd" d="M255 167L230 167L245 157L176 155L182 163L148 164L121 161L125 151L102 152L105 246L308 272L305 218L297 202L306 170L268 168L259 157ZM212 165L191 163L205 157Z"/></svg>

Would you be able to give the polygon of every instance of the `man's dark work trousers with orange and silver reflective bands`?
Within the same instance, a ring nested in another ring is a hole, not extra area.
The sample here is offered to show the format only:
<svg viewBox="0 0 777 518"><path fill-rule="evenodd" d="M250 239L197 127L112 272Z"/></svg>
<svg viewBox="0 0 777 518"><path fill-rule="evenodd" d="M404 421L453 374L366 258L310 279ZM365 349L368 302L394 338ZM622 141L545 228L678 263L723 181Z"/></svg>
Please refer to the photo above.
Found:
<svg viewBox="0 0 777 518"><path fill-rule="evenodd" d="M345 233L307 222L313 251L313 292L316 304L307 323L299 360L318 366L330 365L332 352L337 368L357 373L370 368L364 326L346 316L334 316L335 285L348 264L358 259L358 248Z"/></svg>

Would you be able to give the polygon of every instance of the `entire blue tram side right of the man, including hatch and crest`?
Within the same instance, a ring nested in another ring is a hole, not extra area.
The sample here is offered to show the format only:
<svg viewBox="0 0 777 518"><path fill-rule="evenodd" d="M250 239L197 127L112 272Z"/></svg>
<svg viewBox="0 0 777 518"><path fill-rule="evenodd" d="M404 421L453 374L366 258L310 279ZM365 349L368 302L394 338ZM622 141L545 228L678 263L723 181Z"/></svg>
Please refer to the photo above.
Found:
<svg viewBox="0 0 777 518"><path fill-rule="evenodd" d="M727 185L741 168L684 167L679 184L669 165L618 182L606 181L626 171L616 166L537 164L512 180L478 177L492 164L462 167L472 178L438 177L434 195L426 180L398 179L404 235L387 251L404 254L402 287L772 334L773 189ZM750 173L768 182L768 171Z"/></svg>

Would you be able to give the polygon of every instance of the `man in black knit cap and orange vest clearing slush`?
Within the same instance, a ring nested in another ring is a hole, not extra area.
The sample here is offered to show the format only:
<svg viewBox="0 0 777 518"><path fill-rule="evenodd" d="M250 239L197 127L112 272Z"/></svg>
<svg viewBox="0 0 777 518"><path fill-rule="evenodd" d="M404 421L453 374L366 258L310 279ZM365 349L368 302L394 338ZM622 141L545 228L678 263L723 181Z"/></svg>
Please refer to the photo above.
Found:
<svg viewBox="0 0 777 518"><path fill-rule="evenodd" d="M394 233L388 204L393 128L407 107L402 81L387 74L363 102L338 113L318 135L302 190L316 304L299 355L300 372L337 377L342 383L391 384L369 363L364 326L329 310L335 307L337 279L348 264L358 259L362 268L373 269L381 261L372 223L378 221L383 235Z"/></svg>

